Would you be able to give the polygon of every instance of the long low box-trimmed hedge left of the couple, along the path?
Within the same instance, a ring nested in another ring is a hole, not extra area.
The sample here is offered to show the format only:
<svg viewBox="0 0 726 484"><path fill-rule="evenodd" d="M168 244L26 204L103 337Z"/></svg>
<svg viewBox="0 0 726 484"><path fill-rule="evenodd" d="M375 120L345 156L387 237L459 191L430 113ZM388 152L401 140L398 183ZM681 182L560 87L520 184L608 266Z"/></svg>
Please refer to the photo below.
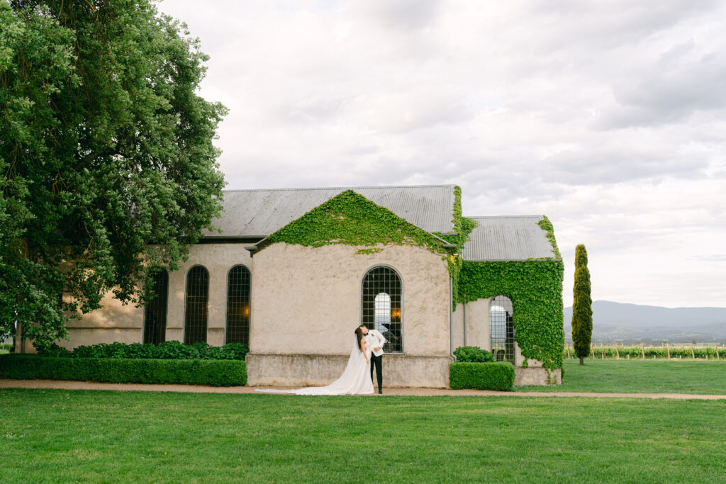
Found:
<svg viewBox="0 0 726 484"><path fill-rule="evenodd" d="M229 387L247 383L247 366L241 360L48 358L38 355L2 355L0 377L13 380L179 383Z"/></svg>

